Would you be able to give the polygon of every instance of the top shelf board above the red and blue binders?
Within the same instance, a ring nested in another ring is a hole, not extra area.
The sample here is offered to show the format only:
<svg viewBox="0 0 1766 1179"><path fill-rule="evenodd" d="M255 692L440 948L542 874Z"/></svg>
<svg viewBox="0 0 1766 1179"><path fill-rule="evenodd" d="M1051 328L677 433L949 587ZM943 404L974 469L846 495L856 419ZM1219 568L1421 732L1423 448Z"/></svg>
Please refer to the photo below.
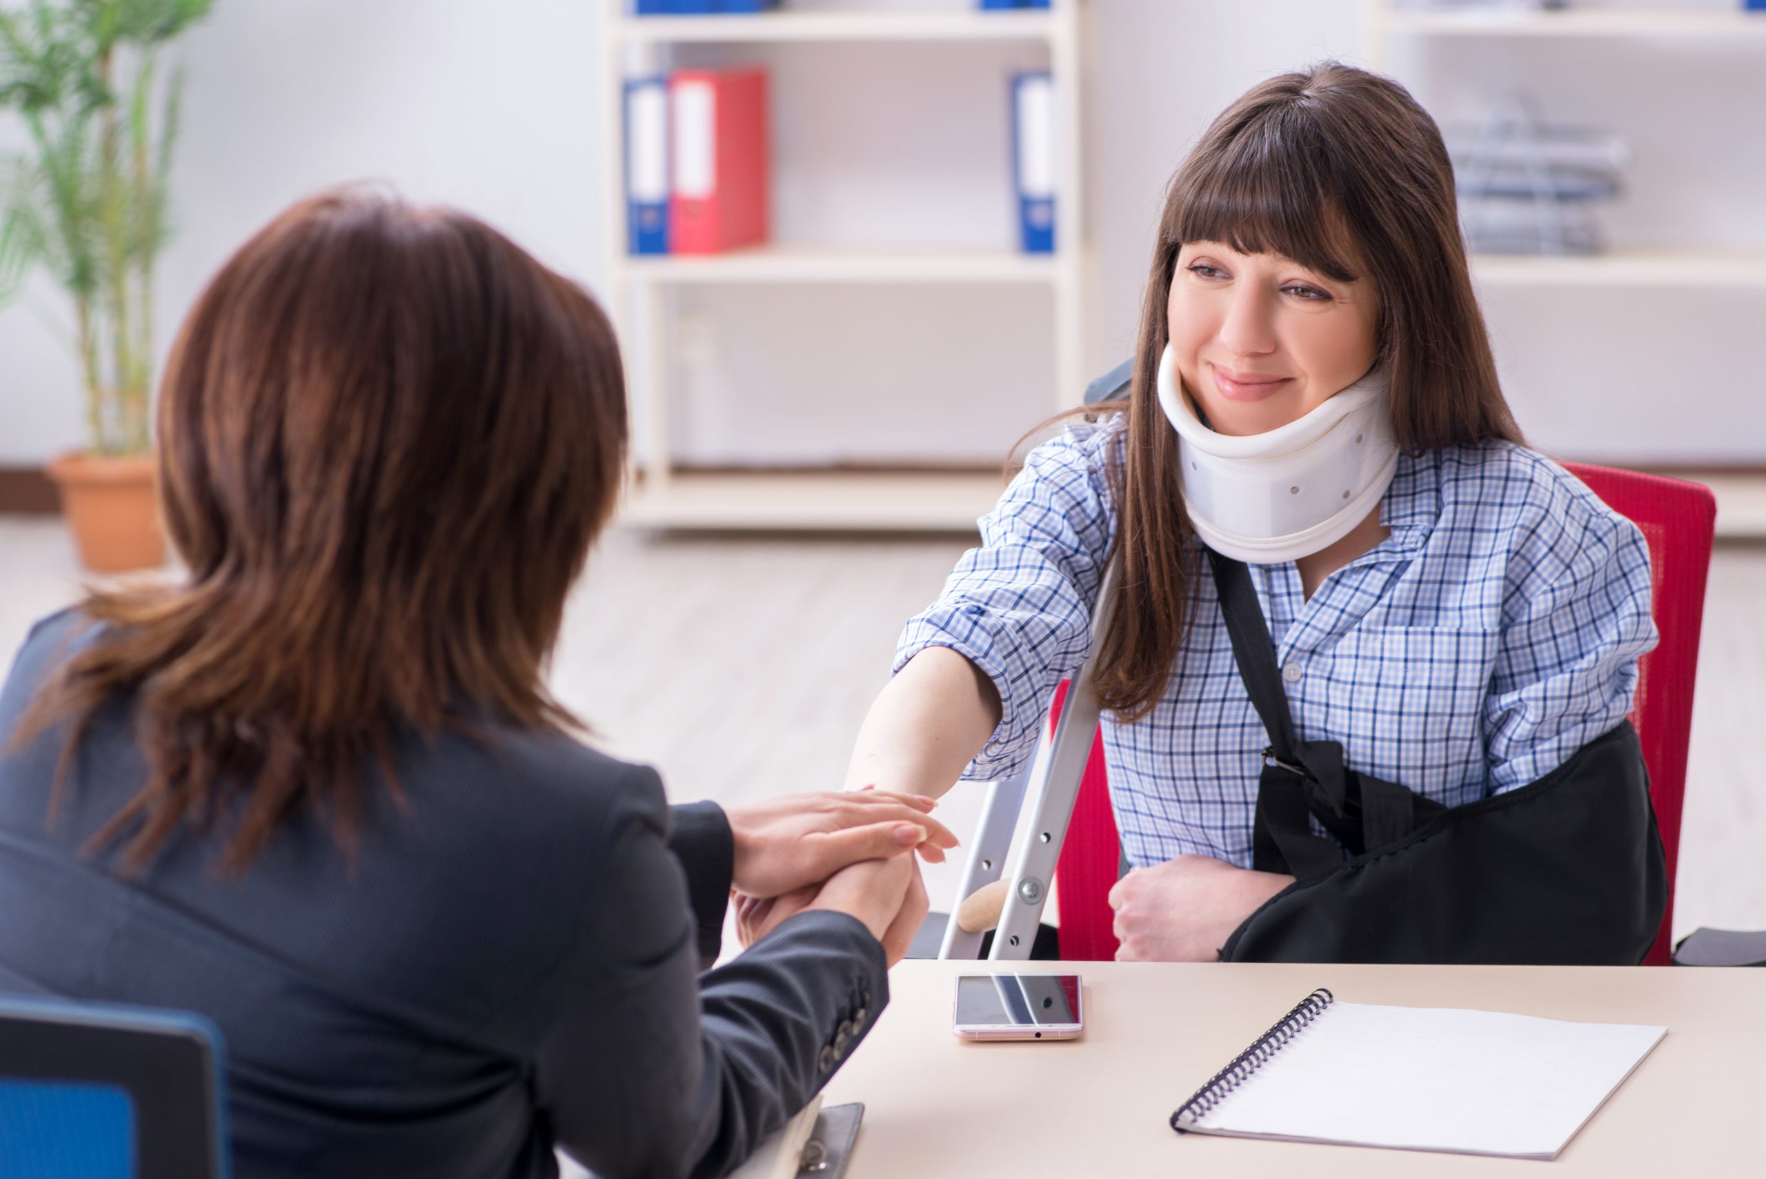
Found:
<svg viewBox="0 0 1766 1179"><path fill-rule="evenodd" d="M756 41L1053 41L1049 11L984 12L759 12L627 16L616 35L634 44Z"/></svg>

